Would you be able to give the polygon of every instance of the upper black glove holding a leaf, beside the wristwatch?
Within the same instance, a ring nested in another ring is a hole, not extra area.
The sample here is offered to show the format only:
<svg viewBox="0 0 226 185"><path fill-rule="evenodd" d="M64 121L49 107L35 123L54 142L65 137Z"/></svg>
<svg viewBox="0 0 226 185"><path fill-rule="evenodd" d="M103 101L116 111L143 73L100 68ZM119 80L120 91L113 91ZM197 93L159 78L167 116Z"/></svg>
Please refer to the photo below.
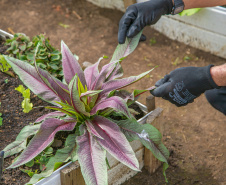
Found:
<svg viewBox="0 0 226 185"><path fill-rule="evenodd" d="M172 0L150 0L129 6L119 22L118 42L124 44L126 37L134 37L145 26L155 24L172 8Z"/></svg>

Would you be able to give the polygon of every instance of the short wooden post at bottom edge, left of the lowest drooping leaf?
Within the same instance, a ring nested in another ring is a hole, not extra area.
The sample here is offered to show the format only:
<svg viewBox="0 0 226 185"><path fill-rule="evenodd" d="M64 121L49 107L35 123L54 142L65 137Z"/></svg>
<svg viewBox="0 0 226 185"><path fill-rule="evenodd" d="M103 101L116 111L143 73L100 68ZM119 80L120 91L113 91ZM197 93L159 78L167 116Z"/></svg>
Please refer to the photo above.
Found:
<svg viewBox="0 0 226 185"><path fill-rule="evenodd" d="M85 185L78 161L60 172L61 185Z"/></svg>

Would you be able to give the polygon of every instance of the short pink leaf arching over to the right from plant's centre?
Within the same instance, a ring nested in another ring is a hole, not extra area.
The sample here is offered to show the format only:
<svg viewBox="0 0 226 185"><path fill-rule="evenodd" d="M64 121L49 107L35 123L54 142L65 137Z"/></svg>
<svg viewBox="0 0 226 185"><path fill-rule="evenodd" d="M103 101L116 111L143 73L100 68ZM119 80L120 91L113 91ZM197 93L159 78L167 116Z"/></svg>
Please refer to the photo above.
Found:
<svg viewBox="0 0 226 185"><path fill-rule="evenodd" d="M118 96L112 96L110 98L100 101L98 104L96 104L93 107L90 114L94 115L97 113L97 111L103 110L106 108L114 109L115 111L123 113L127 117L131 117L128 107L126 105L126 102Z"/></svg>

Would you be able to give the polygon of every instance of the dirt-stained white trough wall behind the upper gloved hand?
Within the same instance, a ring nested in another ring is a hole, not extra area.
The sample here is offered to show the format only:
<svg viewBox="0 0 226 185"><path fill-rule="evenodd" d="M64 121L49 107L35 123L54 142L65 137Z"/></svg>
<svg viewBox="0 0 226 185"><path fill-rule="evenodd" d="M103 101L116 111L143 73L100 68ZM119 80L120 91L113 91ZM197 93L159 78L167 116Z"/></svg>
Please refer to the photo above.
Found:
<svg viewBox="0 0 226 185"><path fill-rule="evenodd" d="M125 5L147 0L87 0L125 11ZM226 58L226 8L203 8L192 16L168 15L152 26L167 37Z"/></svg>

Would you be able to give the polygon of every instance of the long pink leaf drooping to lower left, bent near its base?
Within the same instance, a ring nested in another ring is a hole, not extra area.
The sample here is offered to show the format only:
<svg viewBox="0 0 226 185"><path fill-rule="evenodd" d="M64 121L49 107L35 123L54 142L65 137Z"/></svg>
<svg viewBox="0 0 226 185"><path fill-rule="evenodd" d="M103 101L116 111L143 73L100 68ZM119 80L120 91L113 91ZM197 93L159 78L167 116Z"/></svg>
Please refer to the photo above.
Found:
<svg viewBox="0 0 226 185"><path fill-rule="evenodd" d="M71 131L74 129L75 125L75 122L65 122L63 120L55 118L46 119L41 124L39 131L29 142L27 148L8 168L16 168L29 162L39 153L41 153L53 141L54 136L58 131Z"/></svg>

